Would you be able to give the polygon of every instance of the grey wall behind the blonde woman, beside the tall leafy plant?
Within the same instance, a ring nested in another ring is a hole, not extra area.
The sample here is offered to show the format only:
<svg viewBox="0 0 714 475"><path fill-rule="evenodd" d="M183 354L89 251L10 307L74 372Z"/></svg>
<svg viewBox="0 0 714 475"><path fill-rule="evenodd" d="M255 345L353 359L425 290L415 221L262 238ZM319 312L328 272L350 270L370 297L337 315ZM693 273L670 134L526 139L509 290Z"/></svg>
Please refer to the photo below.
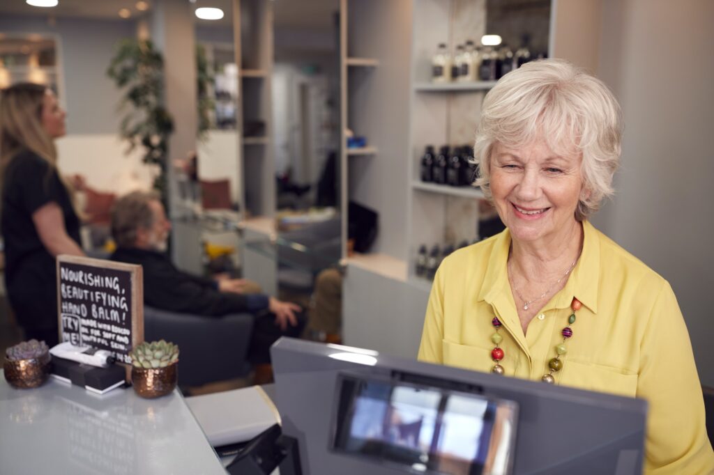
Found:
<svg viewBox="0 0 714 475"><path fill-rule="evenodd" d="M61 73L67 108L67 133L116 133L120 95L106 77L114 45L135 36L136 24L126 20L57 18L54 26L36 16L3 15L5 34L54 34L59 38ZM62 91L60 91L62 92Z"/></svg>

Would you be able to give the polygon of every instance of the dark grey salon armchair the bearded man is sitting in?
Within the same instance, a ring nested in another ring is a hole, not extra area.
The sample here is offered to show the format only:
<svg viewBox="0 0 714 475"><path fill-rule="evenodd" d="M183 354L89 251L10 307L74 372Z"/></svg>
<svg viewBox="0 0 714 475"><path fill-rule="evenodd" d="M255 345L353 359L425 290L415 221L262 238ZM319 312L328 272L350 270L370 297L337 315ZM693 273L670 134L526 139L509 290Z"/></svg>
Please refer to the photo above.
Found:
<svg viewBox="0 0 714 475"><path fill-rule="evenodd" d="M178 344L178 385L201 386L251 372L246 358L253 318L248 313L203 317L145 306L144 339Z"/></svg>

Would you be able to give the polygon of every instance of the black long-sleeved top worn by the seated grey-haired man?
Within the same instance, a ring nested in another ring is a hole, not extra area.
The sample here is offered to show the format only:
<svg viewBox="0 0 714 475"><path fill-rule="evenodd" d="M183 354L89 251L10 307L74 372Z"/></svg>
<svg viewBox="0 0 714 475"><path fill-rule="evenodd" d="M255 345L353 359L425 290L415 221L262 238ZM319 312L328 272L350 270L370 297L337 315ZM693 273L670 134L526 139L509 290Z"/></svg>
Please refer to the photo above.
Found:
<svg viewBox="0 0 714 475"><path fill-rule="evenodd" d="M162 252L120 247L111 260L144 268L144 303L160 310L221 316L258 312L268 307L265 295L221 292L216 281L178 270Z"/></svg>

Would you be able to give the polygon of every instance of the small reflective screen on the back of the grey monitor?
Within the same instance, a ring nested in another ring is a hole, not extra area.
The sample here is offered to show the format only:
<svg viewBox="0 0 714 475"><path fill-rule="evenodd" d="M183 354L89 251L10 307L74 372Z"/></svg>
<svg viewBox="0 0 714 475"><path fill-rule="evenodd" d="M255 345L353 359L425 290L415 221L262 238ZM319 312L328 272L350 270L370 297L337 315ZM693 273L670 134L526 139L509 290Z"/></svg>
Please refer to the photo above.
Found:
<svg viewBox="0 0 714 475"><path fill-rule="evenodd" d="M333 448L412 473L507 474L516 413L479 394L345 377Z"/></svg>

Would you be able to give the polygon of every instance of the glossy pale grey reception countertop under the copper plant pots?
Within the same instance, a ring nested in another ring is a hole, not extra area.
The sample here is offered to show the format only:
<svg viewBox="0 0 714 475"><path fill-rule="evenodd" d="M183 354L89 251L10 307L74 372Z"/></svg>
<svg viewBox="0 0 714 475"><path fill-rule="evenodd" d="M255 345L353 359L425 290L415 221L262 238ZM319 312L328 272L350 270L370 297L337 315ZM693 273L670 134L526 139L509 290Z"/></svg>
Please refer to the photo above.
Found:
<svg viewBox="0 0 714 475"><path fill-rule="evenodd" d="M225 474L178 390L142 399L0 377L0 474Z"/></svg>

